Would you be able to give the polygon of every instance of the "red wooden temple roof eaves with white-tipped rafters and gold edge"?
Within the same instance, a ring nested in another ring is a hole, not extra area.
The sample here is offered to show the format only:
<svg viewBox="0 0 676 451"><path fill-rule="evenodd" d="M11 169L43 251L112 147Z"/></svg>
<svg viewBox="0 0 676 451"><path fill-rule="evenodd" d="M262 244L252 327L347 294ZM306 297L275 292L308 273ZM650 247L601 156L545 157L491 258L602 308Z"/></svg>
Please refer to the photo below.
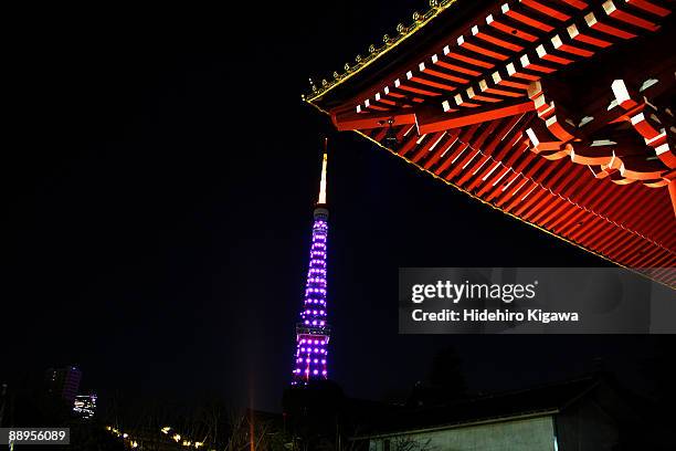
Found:
<svg viewBox="0 0 676 451"><path fill-rule="evenodd" d="M662 0L432 1L304 99L337 129L676 287L673 22Z"/></svg>

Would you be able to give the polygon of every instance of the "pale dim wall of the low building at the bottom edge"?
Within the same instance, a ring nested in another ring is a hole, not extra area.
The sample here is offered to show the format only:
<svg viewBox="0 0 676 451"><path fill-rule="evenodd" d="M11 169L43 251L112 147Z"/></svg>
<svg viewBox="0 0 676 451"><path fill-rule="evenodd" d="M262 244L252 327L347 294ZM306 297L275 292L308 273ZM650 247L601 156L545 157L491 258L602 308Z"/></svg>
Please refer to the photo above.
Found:
<svg viewBox="0 0 676 451"><path fill-rule="evenodd" d="M398 442L415 441L420 445L406 448L415 451L554 451L552 417L468 426L433 432L391 437L390 451L398 451ZM387 451L384 440L372 439L369 451Z"/></svg>

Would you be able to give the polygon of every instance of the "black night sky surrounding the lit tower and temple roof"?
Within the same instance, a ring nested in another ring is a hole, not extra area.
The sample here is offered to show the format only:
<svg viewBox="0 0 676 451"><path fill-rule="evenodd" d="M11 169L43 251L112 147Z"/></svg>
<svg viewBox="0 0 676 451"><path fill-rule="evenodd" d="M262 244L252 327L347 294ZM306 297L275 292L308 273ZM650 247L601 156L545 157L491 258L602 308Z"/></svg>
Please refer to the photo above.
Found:
<svg viewBox="0 0 676 451"><path fill-rule="evenodd" d="M577 375L595 357L640 380L651 337L398 335L400 266L609 265L332 132L300 101L308 76L425 8L17 13L0 376L77 364L86 388L253 392L279 410L328 134L329 370L348 395L411 387L448 345L475 390Z"/></svg>

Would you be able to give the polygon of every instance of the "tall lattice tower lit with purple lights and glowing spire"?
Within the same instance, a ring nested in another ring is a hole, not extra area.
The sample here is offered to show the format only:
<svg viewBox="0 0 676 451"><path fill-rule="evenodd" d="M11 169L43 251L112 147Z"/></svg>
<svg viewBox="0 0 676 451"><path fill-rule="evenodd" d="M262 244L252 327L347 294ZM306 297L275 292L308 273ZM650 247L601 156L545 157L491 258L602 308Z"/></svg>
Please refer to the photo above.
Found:
<svg viewBox="0 0 676 451"><path fill-rule="evenodd" d="M296 324L296 356L292 385L307 385L313 380L328 378L327 345L330 327L326 321L326 241L328 235L328 210L326 208L326 149L321 162L319 199L315 207L313 245L305 284L305 300L300 322Z"/></svg>

